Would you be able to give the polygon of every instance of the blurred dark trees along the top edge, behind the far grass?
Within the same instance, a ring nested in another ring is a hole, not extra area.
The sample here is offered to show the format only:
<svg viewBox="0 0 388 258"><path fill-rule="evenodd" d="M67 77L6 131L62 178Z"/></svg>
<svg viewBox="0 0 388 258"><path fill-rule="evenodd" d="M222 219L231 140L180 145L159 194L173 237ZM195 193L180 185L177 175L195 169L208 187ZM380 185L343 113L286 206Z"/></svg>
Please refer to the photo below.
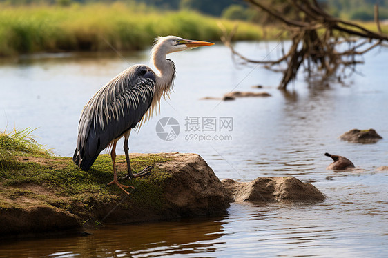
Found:
<svg viewBox="0 0 388 258"><path fill-rule="evenodd" d="M225 19L271 22L262 12L250 8L243 0L0 0L0 3L10 5L50 4L70 6L74 3L142 3L163 10L195 10L203 14ZM271 3L273 0L261 0ZM286 3L287 0L275 0ZM374 19L374 4L378 4L380 19L388 19L388 0L318 0L329 14L342 19L371 21ZM286 8L286 4L284 4ZM282 10L287 15L287 10Z"/></svg>

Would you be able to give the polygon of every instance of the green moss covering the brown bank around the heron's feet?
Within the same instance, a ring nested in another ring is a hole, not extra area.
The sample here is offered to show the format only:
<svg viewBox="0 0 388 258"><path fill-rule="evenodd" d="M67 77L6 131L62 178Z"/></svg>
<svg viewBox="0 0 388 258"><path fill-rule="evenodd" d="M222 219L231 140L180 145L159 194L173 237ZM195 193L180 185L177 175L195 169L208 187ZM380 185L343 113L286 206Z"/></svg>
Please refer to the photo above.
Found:
<svg viewBox="0 0 388 258"><path fill-rule="evenodd" d="M124 208L142 207L155 212L162 211L164 204L163 184L170 177L159 168L159 163L169 161L162 155L144 155L130 159L134 172L152 165L151 175L124 181L135 187L130 191L130 200L124 202ZM126 175L124 155L117 157L119 177ZM70 157L20 156L12 168L0 169L0 197L16 200L28 197L68 210L80 217L90 217L95 206L117 204L125 196L117 186L106 186L113 179L112 161L109 155L100 155L92 168L85 172L75 166ZM27 186L41 186L50 192L45 195L28 190ZM27 190L26 190L27 189ZM53 197L55 196L55 197ZM1 200L0 208L10 205Z"/></svg>

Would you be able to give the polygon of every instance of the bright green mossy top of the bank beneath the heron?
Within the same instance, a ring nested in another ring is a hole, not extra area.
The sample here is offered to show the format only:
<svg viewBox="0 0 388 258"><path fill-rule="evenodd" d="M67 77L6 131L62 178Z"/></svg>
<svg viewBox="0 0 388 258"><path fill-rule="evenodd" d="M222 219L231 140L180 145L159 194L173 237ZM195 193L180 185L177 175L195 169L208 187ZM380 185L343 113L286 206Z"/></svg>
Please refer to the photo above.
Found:
<svg viewBox="0 0 388 258"><path fill-rule="evenodd" d="M141 171L144 167L163 163L168 159L159 155L148 155L142 157L133 157L131 166L135 172ZM118 174L124 176L126 174L125 156L117 156ZM137 171L138 170L138 171ZM159 171L157 166L152 170L151 176L131 179L128 183L134 186L139 192L147 194L148 185L153 185L152 194L155 194L158 189L158 181L163 181L165 175ZM60 208L66 208L66 201L62 197L70 197L68 204L71 201L87 201L91 196L94 198L113 198L117 199L117 195L124 195L124 192L116 186L106 186L106 183L113 180L112 161L109 155L100 155L93 167L85 172L72 163L71 157L48 157L48 156L18 156L12 167L3 168L0 170L0 186L14 189L9 192L9 195L17 197L17 195L28 195L30 191L23 190L28 186L41 186L48 189L57 198L47 199L44 195L36 196L41 201ZM137 195L139 196L139 195ZM159 196L159 195L154 195ZM139 200L145 198L140 197ZM65 198L66 199L66 198ZM104 201L100 199L99 201ZM148 198L148 201L150 199ZM151 201L152 203L152 201ZM0 206L5 206L1 204Z"/></svg>

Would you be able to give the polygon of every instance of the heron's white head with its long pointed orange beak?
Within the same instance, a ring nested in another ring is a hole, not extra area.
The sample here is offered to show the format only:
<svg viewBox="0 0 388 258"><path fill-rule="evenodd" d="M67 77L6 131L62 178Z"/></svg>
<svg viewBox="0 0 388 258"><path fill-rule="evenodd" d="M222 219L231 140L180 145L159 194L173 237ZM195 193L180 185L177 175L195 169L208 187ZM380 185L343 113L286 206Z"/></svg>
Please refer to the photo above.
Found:
<svg viewBox="0 0 388 258"><path fill-rule="evenodd" d="M157 37L155 40L154 48L159 48L161 52L165 54L189 50L202 46L211 46L214 43L206 41L197 41L191 39L182 39L181 37L167 36L167 37Z"/></svg>

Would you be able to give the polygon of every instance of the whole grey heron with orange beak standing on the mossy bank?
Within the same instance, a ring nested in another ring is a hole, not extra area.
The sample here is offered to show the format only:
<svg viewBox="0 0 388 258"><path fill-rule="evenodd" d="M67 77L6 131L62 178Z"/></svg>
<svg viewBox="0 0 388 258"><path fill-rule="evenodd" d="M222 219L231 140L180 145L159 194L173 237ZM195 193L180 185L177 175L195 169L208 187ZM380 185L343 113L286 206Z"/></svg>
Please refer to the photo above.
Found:
<svg viewBox="0 0 388 258"><path fill-rule="evenodd" d="M153 71L145 65L130 66L105 86L99 89L86 103L78 124L77 147L72 160L82 170L88 171L101 151L110 150L113 164L113 181L127 195L124 188L133 188L119 183L116 169L116 144L124 137L124 153L128 174L123 179L149 175L153 166L139 173L130 168L128 139L131 130L139 129L160 110L162 97L169 97L175 79L175 64L166 55L214 43L183 39L176 36L157 37L151 48Z"/></svg>

